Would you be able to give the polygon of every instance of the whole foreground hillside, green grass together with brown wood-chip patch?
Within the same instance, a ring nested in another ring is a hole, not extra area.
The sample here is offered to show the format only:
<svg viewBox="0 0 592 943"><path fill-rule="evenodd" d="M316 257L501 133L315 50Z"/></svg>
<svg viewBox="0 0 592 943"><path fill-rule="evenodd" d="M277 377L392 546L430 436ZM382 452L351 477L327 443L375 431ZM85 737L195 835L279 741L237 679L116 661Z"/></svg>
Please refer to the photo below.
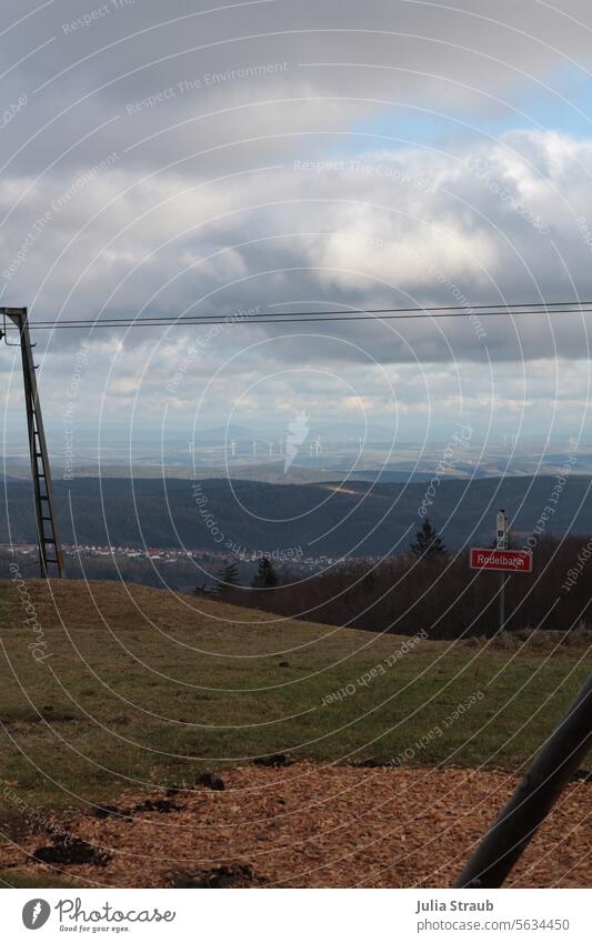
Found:
<svg viewBox="0 0 592 943"><path fill-rule="evenodd" d="M504 646L380 636L68 581L0 583L0 639L9 886L210 886L208 861L243 862L247 884L349 886L363 873L440 886L515 782L502 771L529 761L573 698L589 646L578 633ZM253 765L270 754L295 764ZM205 771L225 790L194 787ZM566 794L528 860L542 870L519 882L583 880L585 831L561 841L591 787ZM402 842L411 856L393 870ZM31 862L40 847L53 864Z"/></svg>

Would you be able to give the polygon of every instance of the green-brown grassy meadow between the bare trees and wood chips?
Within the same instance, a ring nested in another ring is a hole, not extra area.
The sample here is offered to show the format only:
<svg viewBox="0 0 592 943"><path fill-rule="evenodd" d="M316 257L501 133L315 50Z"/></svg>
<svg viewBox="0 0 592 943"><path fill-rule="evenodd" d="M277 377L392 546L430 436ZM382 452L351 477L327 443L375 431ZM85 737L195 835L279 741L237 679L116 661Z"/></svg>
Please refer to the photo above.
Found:
<svg viewBox="0 0 592 943"><path fill-rule="evenodd" d="M586 674L585 636L410 644L141 586L63 581L53 598L27 586L21 598L0 584L11 833L23 815L62 815L131 784L190 784L277 751L515 770Z"/></svg>

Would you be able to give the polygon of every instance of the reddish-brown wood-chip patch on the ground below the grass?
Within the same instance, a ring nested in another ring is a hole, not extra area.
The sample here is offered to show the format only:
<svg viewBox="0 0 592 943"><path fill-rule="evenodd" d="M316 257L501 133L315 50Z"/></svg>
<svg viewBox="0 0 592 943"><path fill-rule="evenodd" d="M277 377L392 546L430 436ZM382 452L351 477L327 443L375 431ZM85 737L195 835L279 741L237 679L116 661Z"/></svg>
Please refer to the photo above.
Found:
<svg viewBox="0 0 592 943"><path fill-rule="evenodd" d="M70 842L43 833L4 845L0 867L49 885L445 887L516 784L450 768L251 765L221 776L223 789L205 778L128 793L62 823ZM572 783L508 885L590 886L591 806L592 783Z"/></svg>

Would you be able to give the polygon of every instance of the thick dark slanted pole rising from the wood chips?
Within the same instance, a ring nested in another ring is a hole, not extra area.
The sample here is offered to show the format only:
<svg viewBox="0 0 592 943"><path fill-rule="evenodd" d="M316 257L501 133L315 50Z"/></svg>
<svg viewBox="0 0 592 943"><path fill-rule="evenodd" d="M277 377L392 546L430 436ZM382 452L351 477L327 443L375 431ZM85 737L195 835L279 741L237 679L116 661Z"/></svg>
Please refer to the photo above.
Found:
<svg viewBox="0 0 592 943"><path fill-rule="evenodd" d="M592 746L592 674L542 746L455 887L500 887Z"/></svg>

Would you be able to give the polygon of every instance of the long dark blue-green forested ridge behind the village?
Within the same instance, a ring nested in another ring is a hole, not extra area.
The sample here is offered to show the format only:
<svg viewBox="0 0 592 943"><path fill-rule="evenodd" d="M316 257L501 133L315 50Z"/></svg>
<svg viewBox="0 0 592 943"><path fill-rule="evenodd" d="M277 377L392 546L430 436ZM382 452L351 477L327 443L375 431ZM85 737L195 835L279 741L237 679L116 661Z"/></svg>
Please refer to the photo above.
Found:
<svg viewBox="0 0 592 943"><path fill-rule="evenodd" d="M238 552L300 548L304 556L375 555L409 545L421 522L428 484L348 482L342 485L267 484L209 479L91 479L58 481L54 491L64 543L179 546ZM495 512L515 516L523 540L545 506L554 535L592 532L592 479L555 478L443 480L433 488L430 520L450 549L464 541L489 543ZM0 542L33 542L29 482L6 482L9 521ZM553 500L551 500L553 499ZM10 526L10 536L9 536Z"/></svg>

